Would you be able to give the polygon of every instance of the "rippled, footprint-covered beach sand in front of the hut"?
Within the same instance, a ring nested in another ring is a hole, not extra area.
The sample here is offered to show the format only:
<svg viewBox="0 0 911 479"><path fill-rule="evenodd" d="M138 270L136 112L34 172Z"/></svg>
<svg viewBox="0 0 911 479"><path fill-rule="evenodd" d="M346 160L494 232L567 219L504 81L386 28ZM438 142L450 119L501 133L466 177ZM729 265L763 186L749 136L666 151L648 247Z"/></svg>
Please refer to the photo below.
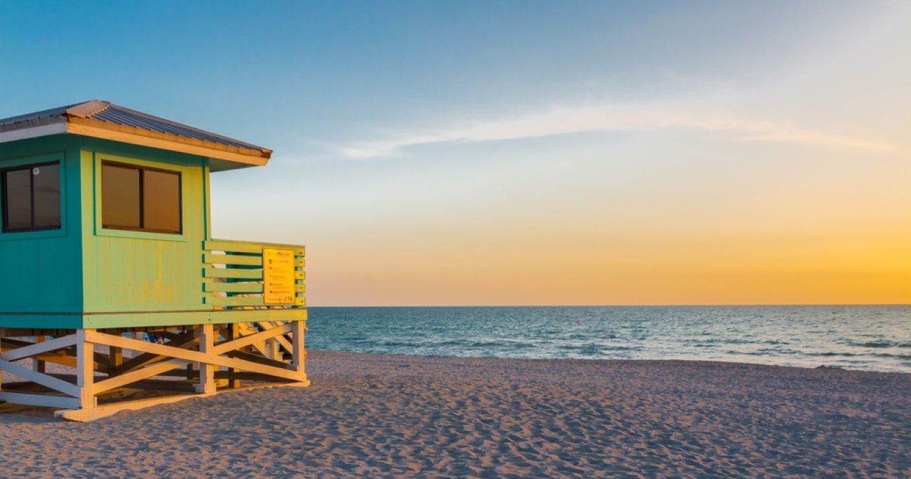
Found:
<svg viewBox="0 0 911 479"><path fill-rule="evenodd" d="M5 476L911 476L911 374L311 352L313 385L67 423Z"/></svg>

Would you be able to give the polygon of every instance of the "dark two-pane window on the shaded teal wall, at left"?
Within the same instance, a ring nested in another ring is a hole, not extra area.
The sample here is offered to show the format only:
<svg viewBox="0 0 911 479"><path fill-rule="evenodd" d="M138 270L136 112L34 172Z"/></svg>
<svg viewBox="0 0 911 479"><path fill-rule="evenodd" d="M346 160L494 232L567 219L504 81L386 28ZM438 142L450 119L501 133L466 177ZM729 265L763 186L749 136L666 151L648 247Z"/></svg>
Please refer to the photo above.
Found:
<svg viewBox="0 0 911 479"><path fill-rule="evenodd" d="M60 163L0 170L3 231L60 229Z"/></svg>

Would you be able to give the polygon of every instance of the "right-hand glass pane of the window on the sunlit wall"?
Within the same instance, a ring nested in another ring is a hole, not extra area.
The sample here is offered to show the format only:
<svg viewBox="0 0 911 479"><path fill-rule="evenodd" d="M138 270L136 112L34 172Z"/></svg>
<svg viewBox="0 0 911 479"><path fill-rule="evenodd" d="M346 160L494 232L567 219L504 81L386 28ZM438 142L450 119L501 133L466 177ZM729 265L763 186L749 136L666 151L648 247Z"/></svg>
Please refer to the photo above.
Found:
<svg viewBox="0 0 911 479"><path fill-rule="evenodd" d="M180 175L152 169L142 175L143 227L179 232Z"/></svg>

